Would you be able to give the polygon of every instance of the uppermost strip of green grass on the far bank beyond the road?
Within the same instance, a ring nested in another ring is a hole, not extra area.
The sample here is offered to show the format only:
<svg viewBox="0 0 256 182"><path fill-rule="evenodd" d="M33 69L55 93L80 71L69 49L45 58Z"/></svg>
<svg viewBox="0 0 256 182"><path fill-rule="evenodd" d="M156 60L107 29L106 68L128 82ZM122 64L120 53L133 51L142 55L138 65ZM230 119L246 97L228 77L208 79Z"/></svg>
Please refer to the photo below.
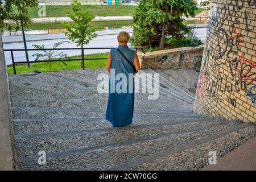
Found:
<svg viewBox="0 0 256 182"><path fill-rule="evenodd" d="M137 6L129 6L129 5L81 5L84 10L90 10L90 12L96 16L131 16L134 14ZM31 18L38 17L38 10L40 7L36 9L29 9L29 14ZM46 5L46 16L47 17L56 17L56 16L66 16L64 13L64 9L68 11L72 11L71 5Z"/></svg>

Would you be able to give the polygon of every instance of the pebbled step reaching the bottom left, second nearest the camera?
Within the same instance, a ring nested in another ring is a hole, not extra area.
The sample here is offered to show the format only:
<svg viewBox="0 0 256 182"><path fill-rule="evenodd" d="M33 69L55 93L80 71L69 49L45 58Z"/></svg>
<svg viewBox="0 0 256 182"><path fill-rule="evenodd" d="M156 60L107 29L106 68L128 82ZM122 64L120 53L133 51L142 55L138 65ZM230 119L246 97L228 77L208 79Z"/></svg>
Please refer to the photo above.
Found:
<svg viewBox="0 0 256 182"><path fill-rule="evenodd" d="M220 127L213 127L211 130L195 131L193 133L187 133L182 135L176 135L171 137L160 138L156 140L149 140L146 142L128 144L126 146L117 146L111 148L105 148L104 150L96 150L86 152L86 149L77 151L57 152L55 154L48 155L48 163L51 165L40 166L31 165L34 160L38 158L23 158L21 161L21 167L34 168L34 169L82 169L82 170L95 170L95 169L109 169L116 167L127 162L134 162L142 159L146 156L151 156L170 150L180 146L182 144L189 143L207 137L210 134L226 130L226 128L220 129ZM36 156L35 156L36 157ZM68 165L67 165L68 163ZM59 166L59 167L58 167ZM56 168L57 167L57 168Z"/></svg>

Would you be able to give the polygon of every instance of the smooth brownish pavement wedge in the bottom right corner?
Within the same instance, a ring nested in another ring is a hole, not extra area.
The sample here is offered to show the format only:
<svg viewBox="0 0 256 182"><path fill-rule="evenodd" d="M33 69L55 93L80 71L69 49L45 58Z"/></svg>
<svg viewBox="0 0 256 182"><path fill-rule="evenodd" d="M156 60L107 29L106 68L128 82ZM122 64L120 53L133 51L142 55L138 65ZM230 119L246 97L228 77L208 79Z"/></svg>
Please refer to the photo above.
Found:
<svg viewBox="0 0 256 182"><path fill-rule="evenodd" d="M256 171L256 137L217 160L204 171Z"/></svg>

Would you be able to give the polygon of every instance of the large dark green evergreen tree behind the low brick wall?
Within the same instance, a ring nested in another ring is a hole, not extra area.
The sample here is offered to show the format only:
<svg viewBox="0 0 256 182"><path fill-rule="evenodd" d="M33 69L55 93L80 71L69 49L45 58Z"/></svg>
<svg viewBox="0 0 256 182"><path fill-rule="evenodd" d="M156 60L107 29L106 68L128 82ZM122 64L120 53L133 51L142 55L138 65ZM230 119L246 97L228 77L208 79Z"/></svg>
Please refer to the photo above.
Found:
<svg viewBox="0 0 256 182"><path fill-rule="evenodd" d="M188 31L182 16L195 16L192 0L141 0L134 14L131 43L134 46L151 46L159 43L164 48L164 38L181 36Z"/></svg>

